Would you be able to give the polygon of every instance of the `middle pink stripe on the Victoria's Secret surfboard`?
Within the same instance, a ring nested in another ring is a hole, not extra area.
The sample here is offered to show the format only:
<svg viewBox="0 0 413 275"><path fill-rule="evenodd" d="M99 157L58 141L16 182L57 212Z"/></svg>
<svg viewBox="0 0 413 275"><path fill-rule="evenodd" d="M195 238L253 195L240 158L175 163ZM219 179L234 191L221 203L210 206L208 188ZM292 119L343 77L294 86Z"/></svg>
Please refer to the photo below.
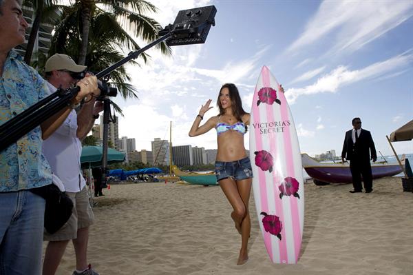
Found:
<svg viewBox="0 0 413 275"><path fill-rule="evenodd" d="M262 68L262 84L264 87L271 87L270 83L270 72L266 66ZM268 121L275 121L274 120L274 114L273 114L273 106L266 104L266 114L267 114L267 120ZM275 139L275 134L272 136ZM271 145L271 152L277 152L277 147L276 147L276 140L272 141L270 143ZM278 161L278 159L277 159ZM275 196L275 215L279 216L279 219L284 223L285 218L284 218L284 209L282 206L282 201L279 200L279 190L278 190L278 185L279 183L279 178L275 170L273 170L273 181L274 181L274 194ZM285 225L283 225L285 228ZM282 239L279 240L279 262L280 263L288 263L288 254L287 254L287 244L286 244L286 234L284 234L284 231L281 232ZM273 236L273 238L276 238ZM277 239L278 240L278 239Z"/></svg>

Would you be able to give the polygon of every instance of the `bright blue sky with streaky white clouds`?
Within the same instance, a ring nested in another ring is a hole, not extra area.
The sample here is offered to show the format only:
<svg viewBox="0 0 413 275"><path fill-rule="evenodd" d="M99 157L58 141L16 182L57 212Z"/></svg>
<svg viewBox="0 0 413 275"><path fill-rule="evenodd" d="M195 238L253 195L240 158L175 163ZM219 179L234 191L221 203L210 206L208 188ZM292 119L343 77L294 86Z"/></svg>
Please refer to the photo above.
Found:
<svg viewBox="0 0 413 275"><path fill-rule="evenodd" d="M136 150L151 150L154 138L216 149L216 132L189 137L202 104L214 108L224 83L235 83L251 111L263 65L279 83L293 114L301 152L335 150L358 116L370 130L377 152L392 154L386 135L413 119L413 1L151 0L162 26L179 10L213 5L215 26L204 44L154 48L146 64L127 64L138 99L114 101L123 109L119 135L136 139ZM143 46L145 42L137 40ZM203 122L204 122L203 121ZM392 143L413 153L413 141ZM246 149L249 147L245 135Z"/></svg>

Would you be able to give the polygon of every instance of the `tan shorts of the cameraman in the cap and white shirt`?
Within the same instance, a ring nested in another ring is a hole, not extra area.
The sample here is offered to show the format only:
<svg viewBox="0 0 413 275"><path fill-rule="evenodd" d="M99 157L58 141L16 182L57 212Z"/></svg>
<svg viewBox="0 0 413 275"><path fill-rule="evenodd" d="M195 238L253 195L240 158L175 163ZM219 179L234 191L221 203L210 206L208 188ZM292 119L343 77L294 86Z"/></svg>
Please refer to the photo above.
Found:
<svg viewBox="0 0 413 275"><path fill-rule="evenodd" d="M63 227L54 234L46 231L43 234L44 241L67 241L77 238L77 230L89 227L94 221L92 207L89 205L86 186L81 192L66 192L73 201L73 212Z"/></svg>

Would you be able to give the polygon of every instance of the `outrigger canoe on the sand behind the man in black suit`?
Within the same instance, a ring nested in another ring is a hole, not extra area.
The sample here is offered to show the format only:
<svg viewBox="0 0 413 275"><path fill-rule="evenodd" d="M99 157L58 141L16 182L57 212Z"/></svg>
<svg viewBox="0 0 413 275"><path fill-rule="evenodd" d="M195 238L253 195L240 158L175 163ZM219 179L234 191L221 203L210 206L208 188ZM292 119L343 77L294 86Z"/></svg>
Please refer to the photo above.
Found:
<svg viewBox="0 0 413 275"><path fill-rule="evenodd" d="M351 183L352 176L349 163L320 163L308 154L301 154L301 161L308 176L324 183ZM372 163L373 179L394 176L403 172L398 163Z"/></svg>

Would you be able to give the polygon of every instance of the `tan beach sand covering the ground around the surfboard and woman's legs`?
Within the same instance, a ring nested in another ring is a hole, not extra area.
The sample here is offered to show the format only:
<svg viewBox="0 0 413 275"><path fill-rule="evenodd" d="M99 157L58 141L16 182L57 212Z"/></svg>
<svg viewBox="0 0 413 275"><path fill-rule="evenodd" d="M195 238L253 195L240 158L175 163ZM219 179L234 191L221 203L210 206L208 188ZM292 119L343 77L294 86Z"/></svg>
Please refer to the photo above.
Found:
<svg viewBox="0 0 413 275"><path fill-rule="evenodd" d="M352 185L305 185L305 222L297 265L271 263L251 194L249 261L235 265L240 235L218 186L111 185L96 199L89 262L106 274L412 274L413 193L400 178ZM72 274L68 245L57 274Z"/></svg>

